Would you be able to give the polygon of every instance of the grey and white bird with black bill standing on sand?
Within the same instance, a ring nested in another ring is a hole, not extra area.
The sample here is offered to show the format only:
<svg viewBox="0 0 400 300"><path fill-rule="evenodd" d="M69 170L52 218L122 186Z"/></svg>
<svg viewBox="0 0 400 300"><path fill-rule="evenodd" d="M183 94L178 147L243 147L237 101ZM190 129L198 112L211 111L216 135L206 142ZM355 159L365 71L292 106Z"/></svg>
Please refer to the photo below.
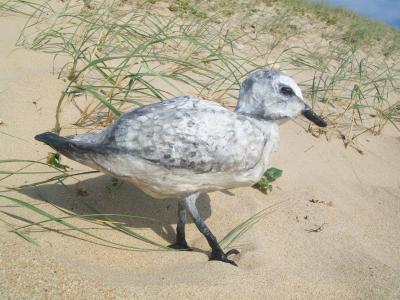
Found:
<svg viewBox="0 0 400 300"><path fill-rule="evenodd" d="M242 83L234 111L193 96L145 105L123 113L99 132L35 139L95 170L132 182L154 198L178 199L176 241L185 237L186 213L211 247L210 260L237 264L201 218L200 193L252 186L263 176L278 143L280 120L303 115L319 127L326 121L304 100L293 78L260 69Z"/></svg>

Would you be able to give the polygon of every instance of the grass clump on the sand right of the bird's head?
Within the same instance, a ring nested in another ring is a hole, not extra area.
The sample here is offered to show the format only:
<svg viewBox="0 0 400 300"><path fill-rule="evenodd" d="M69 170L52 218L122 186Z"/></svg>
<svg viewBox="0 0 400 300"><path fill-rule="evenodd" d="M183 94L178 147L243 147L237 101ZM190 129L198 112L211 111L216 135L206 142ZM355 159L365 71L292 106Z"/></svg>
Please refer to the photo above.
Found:
<svg viewBox="0 0 400 300"><path fill-rule="evenodd" d="M398 66L370 59L343 42L299 49L291 62L309 74L302 83L306 94L313 105L326 104L346 146L367 131L381 133L387 124L398 128Z"/></svg>

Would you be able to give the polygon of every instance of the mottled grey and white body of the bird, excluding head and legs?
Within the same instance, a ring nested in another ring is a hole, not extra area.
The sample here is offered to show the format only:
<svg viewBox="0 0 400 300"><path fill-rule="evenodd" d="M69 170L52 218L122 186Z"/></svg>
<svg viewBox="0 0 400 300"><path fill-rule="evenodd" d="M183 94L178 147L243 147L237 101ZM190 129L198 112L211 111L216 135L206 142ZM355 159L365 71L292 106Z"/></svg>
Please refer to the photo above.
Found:
<svg viewBox="0 0 400 300"><path fill-rule="evenodd" d="M66 147L49 144L164 198L254 184L265 171L275 127L215 102L177 97L129 111L101 132L67 137Z"/></svg>

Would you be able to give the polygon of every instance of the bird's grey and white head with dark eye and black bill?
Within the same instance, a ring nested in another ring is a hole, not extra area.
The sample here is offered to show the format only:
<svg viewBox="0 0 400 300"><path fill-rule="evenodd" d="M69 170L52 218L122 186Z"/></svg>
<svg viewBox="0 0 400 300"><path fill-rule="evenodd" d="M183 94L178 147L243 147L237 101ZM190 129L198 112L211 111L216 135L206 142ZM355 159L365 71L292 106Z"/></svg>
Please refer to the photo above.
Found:
<svg viewBox="0 0 400 300"><path fill-rule="evenodd" d="M236 111L265 120L294 118L303 114L320 127L327 125L304 101L296 82L276 70L256 71L243 82Z"/></svg>

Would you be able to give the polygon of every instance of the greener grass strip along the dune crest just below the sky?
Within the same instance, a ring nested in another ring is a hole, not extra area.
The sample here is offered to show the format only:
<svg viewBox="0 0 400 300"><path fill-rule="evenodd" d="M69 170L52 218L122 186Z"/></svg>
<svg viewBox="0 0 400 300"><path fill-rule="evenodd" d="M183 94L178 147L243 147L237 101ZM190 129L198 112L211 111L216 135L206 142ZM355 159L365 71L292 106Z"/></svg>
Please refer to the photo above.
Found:
<svg viewBox="0 0 400 300"><path fill-rule="evenodd" d="M267 24L268 26L264 28L270 32L298 33L302 31L302 23L298 22L299 20L313 24L321 22L334 29L329 32L331 40L344 41L356 48L365 49L374 46L374 51L378 50L385 57L395 53L398 55L400 51L399 30L344 8L329 6L323 0L215 0L207 2L174 0L171 6L187 14L193 14L193 11L197 14L200 12L203 17L209 16L210 11L218 11L229 17L242 12L241 17L244 22L251 19L249 18L251 16L259 16L268 11L271 14L267 18L259 19L257 25ZM275 16L279 18L274 18ZM275 21L274 24L271 20ZM323 31L320 33L326 34Z"/></svg>

